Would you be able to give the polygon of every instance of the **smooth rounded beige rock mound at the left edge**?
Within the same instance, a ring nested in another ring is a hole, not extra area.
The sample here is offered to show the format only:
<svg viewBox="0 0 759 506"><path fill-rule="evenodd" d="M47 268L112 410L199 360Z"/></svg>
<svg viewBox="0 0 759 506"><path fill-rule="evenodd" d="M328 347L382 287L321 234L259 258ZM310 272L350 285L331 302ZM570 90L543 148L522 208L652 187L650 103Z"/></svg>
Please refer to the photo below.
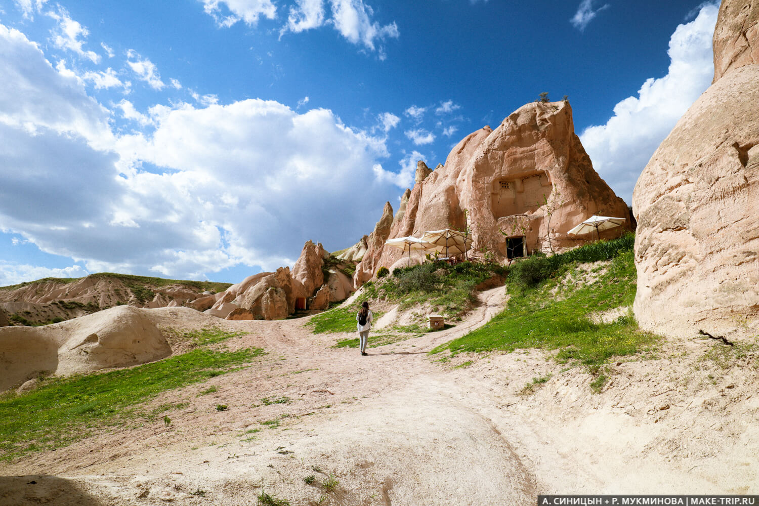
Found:
<svg viewBox="0 0 759 506"><path fill-rule="evenodd" d="M0 328L0 390L40 372L68 376L168 357L171 347L144 311L116 306L43 327Z"/></svg>

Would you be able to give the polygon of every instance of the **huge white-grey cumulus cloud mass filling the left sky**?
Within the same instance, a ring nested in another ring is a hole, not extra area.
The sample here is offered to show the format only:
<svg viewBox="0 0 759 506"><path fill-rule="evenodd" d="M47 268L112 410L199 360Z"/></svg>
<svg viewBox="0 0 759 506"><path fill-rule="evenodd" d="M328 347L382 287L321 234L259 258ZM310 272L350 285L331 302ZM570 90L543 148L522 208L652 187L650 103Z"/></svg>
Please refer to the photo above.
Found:
<svg viewBox="0 0 759 506"><path fill-rule="evenodd" d="M14 169L0 171L0 230L90 272L292 265L305 240L361 237L408 181L402 167L377 172L384 137L326 109L251 99L140 112L122 100L122 118L150 127L116 137L112 113L23 33L0 25L0 55L0 166Z"/></svg>

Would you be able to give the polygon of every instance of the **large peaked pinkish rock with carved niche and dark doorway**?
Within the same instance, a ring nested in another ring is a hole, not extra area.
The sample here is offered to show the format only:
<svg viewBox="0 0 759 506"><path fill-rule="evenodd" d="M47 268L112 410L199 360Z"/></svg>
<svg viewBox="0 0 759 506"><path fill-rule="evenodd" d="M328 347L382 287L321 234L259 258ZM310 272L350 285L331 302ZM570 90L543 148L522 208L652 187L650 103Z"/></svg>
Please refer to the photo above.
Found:
<svg viewBox="0 0 759 506"><path fill-rule="evenodd" d="M424 177L417 178L402 218L392 223L386 238L468 225L475 250L505 259L515 253L516 242L531 253L593 240L567 236L591 215L630 222L625 202L594 171L575 134L568 102L524 105L495 130L483 127L469 134L431 174L425 175L427 165L422 165L417 176ZM606 237L620 232L611 230ZM403 255L383 244L369 244L354 275L357 286Z"/></svg>

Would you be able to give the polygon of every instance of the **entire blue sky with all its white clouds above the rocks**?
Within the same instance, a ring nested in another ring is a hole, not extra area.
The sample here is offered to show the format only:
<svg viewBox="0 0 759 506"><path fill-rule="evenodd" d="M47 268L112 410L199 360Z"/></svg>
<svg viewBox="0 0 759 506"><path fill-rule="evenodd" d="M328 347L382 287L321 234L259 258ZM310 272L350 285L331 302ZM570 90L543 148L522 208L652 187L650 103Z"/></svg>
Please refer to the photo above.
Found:
<svg viewBox="0 0 759 506"><path fill-rule="evenodd" d="M235 283L349 247L461 138L568 96L627 203L718 2L0 0L0 286Z"/></svg>

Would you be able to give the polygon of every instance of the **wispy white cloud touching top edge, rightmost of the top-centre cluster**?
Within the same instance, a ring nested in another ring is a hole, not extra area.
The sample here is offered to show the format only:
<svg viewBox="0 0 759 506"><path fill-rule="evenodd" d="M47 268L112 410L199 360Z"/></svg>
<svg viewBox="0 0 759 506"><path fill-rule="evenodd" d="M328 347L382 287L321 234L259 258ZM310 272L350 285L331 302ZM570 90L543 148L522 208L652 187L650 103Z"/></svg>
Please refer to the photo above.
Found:
<svg viewBox="0 0 759 506"><path fill-rule="evenodd" d="M354 44L363 44L374 51L374 43L387 38L397 39L400 33L393 21L391 24L380 26L371 17L374 11L364 0L329 0L332 5L332 24L342 36Z"/></svg>

